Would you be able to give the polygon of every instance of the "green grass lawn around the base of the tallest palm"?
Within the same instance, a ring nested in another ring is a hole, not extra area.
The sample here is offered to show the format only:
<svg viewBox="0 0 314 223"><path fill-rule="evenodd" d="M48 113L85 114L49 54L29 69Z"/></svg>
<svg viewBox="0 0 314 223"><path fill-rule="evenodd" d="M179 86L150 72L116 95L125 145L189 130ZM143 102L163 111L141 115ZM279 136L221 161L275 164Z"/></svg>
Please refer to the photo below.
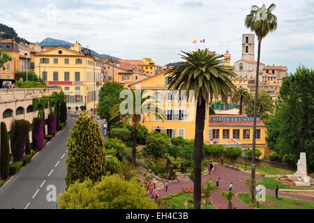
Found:
<svg viewBox="0 0 314 223"><path fill-rule="evenodd" d="M237 194L237 197L249 206L257 208L256 203L251 203L251 194ZM260 209L314 209L314 202L280 196L276 199L275 196L267 194L266 201L260 202Z"/></svg>

